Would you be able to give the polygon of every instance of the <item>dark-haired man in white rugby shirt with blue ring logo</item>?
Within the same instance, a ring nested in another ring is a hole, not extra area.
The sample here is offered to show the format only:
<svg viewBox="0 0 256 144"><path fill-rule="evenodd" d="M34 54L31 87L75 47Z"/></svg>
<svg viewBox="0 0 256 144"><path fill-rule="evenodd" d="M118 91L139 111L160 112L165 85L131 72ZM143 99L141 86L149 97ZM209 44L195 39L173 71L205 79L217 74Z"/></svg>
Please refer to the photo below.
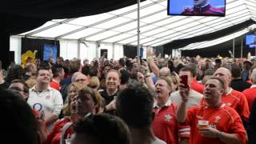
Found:
<svg viewBox="0 0 256 144"><path fill-rule="evenodd" d="M45 113L47 129L58 119L63 106L62 94L51 88L50 71L46 67L40 67L36 73L36 84L30 88L28 103L38 111Z"/></svg>

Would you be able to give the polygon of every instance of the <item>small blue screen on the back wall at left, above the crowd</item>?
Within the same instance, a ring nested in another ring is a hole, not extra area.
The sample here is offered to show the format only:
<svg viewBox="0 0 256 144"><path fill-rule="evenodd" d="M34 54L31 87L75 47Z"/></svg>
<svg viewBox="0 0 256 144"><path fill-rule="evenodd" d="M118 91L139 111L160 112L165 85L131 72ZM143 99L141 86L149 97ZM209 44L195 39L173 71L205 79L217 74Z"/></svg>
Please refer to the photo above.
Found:
<svg viewBox="0 0 256 144"><path fill-rule="evenodd" d="M57 60L57 50L56 45L43 45L43 60L47 61L49 58L54 58L54 62Z"/></svg>

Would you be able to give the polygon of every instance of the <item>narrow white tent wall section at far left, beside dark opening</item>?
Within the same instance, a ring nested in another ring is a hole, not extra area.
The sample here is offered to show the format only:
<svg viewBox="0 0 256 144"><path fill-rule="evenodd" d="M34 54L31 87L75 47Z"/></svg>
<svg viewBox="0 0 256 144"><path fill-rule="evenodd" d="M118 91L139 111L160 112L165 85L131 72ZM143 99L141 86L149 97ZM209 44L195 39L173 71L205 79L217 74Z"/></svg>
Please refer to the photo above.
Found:
<svg viewBox="0 0 256 144"><path fill-rule="evenodd" d="M22 38L10 37L10 51L14 51L14 61L17 64L21 64Z"/></svg>

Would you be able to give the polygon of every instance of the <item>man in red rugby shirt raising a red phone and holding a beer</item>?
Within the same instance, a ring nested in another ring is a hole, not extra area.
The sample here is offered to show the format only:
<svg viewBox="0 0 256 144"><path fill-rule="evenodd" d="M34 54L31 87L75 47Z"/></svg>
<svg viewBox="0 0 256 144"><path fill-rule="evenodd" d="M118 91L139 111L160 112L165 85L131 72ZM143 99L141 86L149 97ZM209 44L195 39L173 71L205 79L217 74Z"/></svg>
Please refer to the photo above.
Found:
<svg viewBox="0 0 256 144"><path fill-rule="evenodd" d="M222 103L224 82L220 78L210 78L206 82L204 105L186 110L189 90L189 87L181 87L182 102L176 118L182 125L191 126L191 144L245 143L246 130L241 118L234 109Z"/></svg>

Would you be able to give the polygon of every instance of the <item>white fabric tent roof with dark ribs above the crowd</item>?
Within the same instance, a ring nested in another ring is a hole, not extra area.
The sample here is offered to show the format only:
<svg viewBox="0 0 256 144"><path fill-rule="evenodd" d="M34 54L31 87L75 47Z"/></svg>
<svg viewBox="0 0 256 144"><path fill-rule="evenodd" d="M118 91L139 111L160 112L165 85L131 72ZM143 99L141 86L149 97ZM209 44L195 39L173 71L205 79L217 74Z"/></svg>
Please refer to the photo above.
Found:
<svg viewBox="0 0 256 144"><path fill-rule="evenodd" d="M140 43L142 46L162 46L179 39L214 33L256 19L256 2L254 0L226 0L225 17L170 16L166 13L166 0L141 2L140 10ZM137 5L81 18L53 19L37 29L19 35L136 46ZM209 45L204 42L200 45L194 44L194 46L204 46L204 44ZM185 49L190 48L194 49L195 47L189 46Z"/></svg>

